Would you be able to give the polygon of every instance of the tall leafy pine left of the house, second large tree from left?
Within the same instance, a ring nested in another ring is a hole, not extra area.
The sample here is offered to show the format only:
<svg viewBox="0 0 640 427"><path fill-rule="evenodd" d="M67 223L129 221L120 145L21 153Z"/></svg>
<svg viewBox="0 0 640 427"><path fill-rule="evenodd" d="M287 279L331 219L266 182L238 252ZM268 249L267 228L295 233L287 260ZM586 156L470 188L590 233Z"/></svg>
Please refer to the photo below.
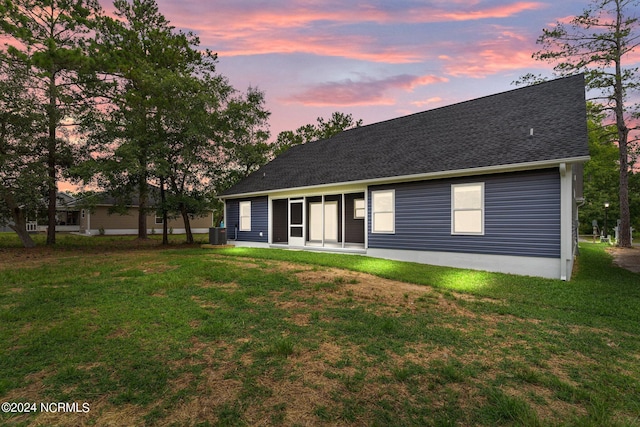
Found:
<svg viewBox="0 0 640 427"><path fill-rule="evenodd" d="M137 198L138 238L146 239L149 185L166 154L162 111L172 102L166 89L203 58L194 48L197 38L175 31L154 0L116 0L114 6L116 17L103 17L95 40L109 107L93 140L102 151L103 186L128 196L123 200Z"/></svg>

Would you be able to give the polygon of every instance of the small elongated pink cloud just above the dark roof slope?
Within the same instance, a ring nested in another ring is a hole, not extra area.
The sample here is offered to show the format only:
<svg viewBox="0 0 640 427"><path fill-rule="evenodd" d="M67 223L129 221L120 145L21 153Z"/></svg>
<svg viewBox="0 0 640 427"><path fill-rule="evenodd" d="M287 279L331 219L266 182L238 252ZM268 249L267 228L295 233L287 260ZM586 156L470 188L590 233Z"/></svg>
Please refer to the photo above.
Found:
<svg viewBox="0 0 640 427"><path fill-rule="evenodd" d="M432 75L399 75L387 79L351 79L340 82L322 83L301 93L284 99L287 103L300 103L306 106L355 106L355 105L393 105L395 99L387 92L404 90L411 92L418 86L443 83L448 79Z"/></svg>

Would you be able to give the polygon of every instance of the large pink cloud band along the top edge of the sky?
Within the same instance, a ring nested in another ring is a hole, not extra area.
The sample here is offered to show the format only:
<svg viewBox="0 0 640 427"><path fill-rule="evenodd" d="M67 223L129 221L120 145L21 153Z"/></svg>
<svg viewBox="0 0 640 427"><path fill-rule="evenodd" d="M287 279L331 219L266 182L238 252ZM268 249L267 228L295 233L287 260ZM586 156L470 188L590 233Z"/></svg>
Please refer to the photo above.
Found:
<svg viewBox="0 0 640 427"><path fill-rule="evenodd" d="M355 28L504 19L544 7L544 3L532 1L484 7L468 1L420 7L400 3L278 3L217 2L215 9L202 12L198 20L185 11L188 7L183 4L169 7L174 24L197 32L203 44L214 46L221 56L314 53L393 64L419 62L425 59L424 53L404 46L385 47L379 35L363 36L367 33Z"/></svg>

